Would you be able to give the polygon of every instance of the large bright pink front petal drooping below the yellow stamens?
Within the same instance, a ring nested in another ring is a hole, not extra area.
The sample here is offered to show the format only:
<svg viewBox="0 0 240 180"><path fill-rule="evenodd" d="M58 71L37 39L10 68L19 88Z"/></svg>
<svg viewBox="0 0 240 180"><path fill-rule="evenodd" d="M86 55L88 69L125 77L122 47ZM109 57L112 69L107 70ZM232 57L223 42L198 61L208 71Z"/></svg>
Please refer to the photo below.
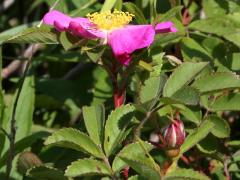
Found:
<svg viewBox="0 0 240 180"><path fill-rule="evenodd" d="M125 65L131 60L130 54L137 49L151 45L155 31L152 25L128 25L108 34L108 44L115 57ZM125 58L125 60L124 60Z"/></svg>

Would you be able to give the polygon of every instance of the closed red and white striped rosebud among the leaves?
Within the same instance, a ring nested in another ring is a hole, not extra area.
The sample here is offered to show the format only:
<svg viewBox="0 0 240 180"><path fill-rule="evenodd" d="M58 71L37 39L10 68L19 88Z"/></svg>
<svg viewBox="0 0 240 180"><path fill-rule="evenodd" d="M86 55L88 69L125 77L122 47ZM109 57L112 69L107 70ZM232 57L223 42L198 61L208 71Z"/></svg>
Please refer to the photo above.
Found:
<svg viewBox="0 0 240 180"><path fill-rule="evenodd" d="M174 120L173 123L163 128L163 138L167 148L179 148L185 139L183 122L181 120Z"/></svg>

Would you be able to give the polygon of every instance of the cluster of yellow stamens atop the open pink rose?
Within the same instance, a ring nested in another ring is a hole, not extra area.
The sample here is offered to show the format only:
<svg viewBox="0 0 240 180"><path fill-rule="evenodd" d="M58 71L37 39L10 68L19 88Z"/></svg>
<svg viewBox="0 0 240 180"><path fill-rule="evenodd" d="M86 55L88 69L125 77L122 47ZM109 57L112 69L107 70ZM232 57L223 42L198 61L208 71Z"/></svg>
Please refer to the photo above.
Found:
<svg viewBox="0 0 240 180"><path fill-rule="evenodd" d="M99 29L111 30L129 24L134 15L129 12L114 10L113 12L95 12L88 14L87 17L92 23L96 24Z"/></svg>

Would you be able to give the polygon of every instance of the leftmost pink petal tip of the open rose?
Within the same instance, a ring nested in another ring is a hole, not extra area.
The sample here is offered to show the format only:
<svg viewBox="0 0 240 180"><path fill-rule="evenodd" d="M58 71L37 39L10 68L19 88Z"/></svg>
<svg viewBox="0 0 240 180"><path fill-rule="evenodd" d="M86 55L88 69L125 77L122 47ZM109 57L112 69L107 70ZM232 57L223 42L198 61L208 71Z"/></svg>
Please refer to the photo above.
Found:
<svg viewBox="0 0 240 180"><path fill-rule="evenodd" d="M64 31L68 28L72 18L59 11L53 10L48 12L43 17L43 22L54 26L58 31Z"/></svg>

